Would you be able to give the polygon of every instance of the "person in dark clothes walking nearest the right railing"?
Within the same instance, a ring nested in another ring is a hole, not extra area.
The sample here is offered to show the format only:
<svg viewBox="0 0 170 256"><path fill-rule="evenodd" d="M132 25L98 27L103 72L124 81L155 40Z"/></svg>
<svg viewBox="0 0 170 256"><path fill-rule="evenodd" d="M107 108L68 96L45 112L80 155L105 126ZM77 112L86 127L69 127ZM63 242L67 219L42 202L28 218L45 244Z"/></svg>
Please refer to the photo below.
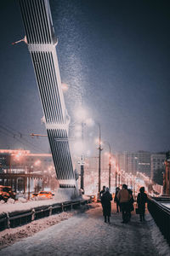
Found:
<svg viewBox="0 0 170 256"><path fill-rule="evenodd" d="M145 220L144 219L145 203L148 201L148 196L144 193L144 187L141 187L139 191L140 192L137 197L137 203L139 208L140 221L143 221Z"/></svg>

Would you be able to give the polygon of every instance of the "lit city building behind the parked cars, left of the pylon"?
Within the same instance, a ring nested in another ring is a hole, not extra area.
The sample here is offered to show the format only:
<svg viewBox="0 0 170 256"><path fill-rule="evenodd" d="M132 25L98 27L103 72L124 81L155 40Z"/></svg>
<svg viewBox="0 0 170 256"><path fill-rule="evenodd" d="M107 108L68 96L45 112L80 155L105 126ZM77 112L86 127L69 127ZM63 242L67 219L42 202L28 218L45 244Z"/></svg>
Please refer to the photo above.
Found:
<svg viewBox="0 0 170 256"><path fill-rule="evenodd" d="M54 190L57 186L51 154L31 154L29 150L0 149L0 185L16 192Z"/></svg>

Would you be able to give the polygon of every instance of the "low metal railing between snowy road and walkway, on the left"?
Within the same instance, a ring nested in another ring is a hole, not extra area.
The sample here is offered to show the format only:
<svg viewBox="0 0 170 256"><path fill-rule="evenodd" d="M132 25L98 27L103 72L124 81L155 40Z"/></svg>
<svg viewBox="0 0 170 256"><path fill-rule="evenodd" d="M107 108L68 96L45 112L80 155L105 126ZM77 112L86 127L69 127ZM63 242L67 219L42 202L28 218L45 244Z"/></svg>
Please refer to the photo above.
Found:
<svg viewBox="0 0 170 256"><path fill-rule="evenodd" d="M71 209L75 209L90 202L90 200L65 201L49 206L34 207L24 212L3 213L0 215L0 231L28 224L38 218L48 217L59 212L71 211Z"/></svg>

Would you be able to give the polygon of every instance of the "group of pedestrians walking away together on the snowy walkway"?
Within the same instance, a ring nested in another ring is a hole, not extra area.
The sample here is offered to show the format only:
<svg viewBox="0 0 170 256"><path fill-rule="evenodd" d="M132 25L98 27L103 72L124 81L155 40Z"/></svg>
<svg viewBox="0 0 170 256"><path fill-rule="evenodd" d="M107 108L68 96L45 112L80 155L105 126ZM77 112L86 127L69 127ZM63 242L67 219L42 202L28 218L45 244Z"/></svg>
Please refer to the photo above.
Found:
<svg viewBox="0 0 170 256"><path fill-rule="evenodd" d="M108 221L110 224L112 195L109 188L105 188L105 186L103 186L103 189L99 193L99 198L103 208L105 223ZM116 212L122 212L122 223L127 224L131 219L131 212L134 210L133 191L131 189L127 189L126 184L122 185L122 189L117 187L114 201L116 202ZM140 221L144 221L145 203L147 201L148 197L144 193L144 187L141 187L137 196Z"/></svg>

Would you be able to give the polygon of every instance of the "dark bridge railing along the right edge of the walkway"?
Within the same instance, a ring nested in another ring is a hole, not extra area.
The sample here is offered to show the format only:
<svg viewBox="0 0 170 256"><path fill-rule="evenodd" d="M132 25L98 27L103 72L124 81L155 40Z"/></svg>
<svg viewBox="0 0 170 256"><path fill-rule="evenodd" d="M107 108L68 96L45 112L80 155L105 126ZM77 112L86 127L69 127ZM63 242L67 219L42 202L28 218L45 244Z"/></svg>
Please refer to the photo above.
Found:
<svg viewBox="0 0 170 256"><path fill-rule="evenodd" d="M161 230L162 235L167 239L170 245L170 208L163 206L161 204L162 202L170 203L170 201L165 198L150 198L148 210Z"/></svg>

